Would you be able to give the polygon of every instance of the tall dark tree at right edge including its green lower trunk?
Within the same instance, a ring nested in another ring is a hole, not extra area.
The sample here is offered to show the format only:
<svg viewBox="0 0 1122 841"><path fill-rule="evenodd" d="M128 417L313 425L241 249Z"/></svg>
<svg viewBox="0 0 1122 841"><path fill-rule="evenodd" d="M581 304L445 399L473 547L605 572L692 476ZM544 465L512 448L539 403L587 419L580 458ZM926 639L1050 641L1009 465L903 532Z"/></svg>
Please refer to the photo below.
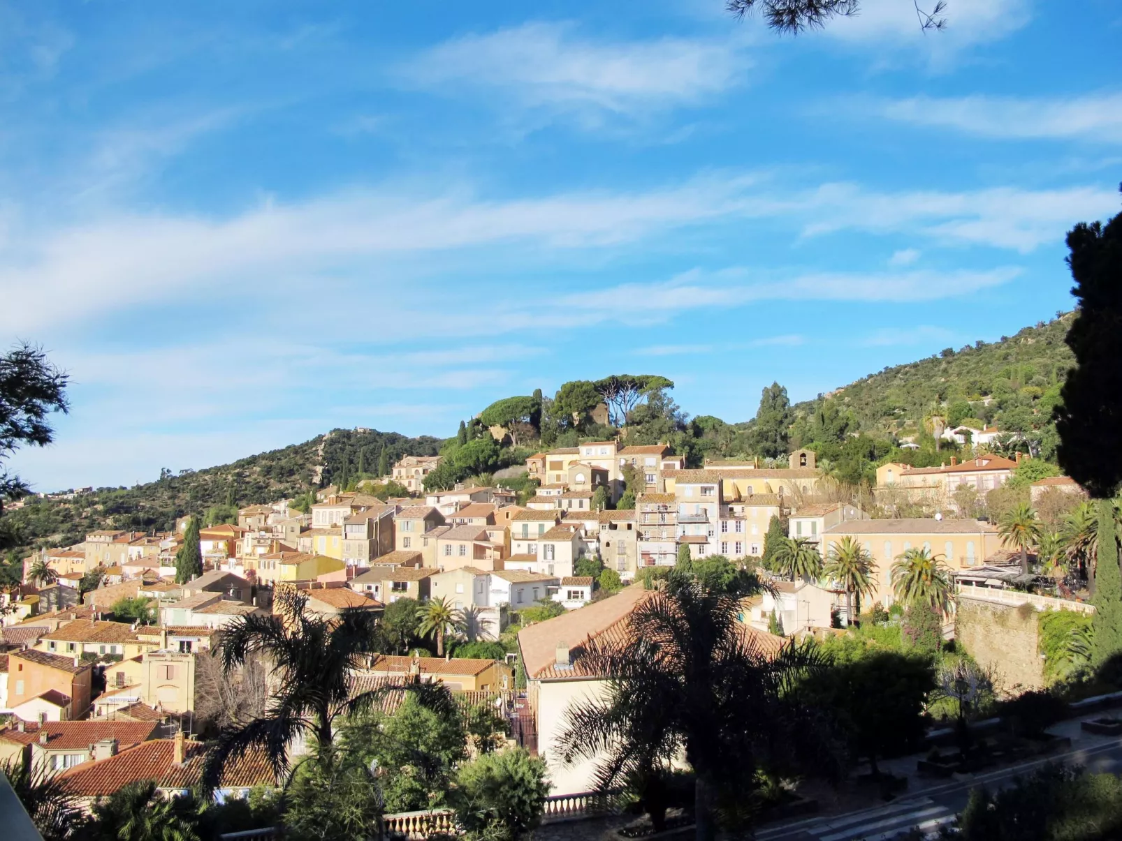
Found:
<svg viewBox="0 0 1122 841"><path fill-rule="evenodd" d="M1095 650L1101 665L1122 651L1122 572L1111 498L1122 484L1122 213L1067 234L1078 298L1067 344L1075 354L1056 407L1060 466L1098 508Z"/></svg>

